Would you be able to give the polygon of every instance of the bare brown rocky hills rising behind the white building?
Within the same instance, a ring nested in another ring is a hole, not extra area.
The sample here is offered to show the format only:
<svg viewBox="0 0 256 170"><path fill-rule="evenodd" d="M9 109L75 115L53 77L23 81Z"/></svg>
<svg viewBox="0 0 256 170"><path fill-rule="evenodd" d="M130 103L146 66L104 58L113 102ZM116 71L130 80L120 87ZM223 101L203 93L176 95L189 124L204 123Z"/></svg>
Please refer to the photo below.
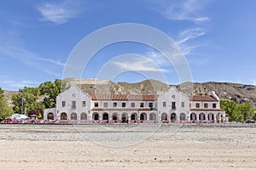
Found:
<svg viewBox="0 0 256 170"><path fill-rule="evenodd" d="M164 92L171 86L177 87L184 94L207 95L215 91L220 99L232 99L237 103L251 103L256 108L256 86L230 82L204 82L183 83L180 85L168 85L156 80L145 80L143 82L111 82L96 79L65 79L63 82L77 84L89 94L157 94ZM191 90L192 89L192 90ZM5 91L9 101L11 95L16 92Z"/></svg>

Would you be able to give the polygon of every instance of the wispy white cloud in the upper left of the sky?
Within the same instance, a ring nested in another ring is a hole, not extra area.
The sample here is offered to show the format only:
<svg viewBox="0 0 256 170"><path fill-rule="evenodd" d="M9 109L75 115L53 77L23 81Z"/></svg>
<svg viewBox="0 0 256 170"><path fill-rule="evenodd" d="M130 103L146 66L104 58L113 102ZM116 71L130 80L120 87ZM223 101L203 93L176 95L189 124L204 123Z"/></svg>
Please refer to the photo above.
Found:
<svg viewBox="0 0 256 170"><path fill-rule="evenodd" d="M79 13L78 2L64 1L61 3L43 3L38 6L43 21L53 22L57 25L66 23Z"/></svg>

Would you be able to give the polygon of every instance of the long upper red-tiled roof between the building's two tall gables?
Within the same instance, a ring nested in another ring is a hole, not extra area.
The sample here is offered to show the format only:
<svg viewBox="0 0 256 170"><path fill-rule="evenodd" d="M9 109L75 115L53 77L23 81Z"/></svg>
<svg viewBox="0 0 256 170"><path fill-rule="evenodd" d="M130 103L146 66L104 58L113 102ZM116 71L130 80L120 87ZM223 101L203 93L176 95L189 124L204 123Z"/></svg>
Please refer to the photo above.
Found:
<svg viewBox="0 0 256 170"><path fill-rule="evenodd" d="M135 94L91 94L92 100L133 100L133 101L154 101L156 95L135 95Z"/></svg>

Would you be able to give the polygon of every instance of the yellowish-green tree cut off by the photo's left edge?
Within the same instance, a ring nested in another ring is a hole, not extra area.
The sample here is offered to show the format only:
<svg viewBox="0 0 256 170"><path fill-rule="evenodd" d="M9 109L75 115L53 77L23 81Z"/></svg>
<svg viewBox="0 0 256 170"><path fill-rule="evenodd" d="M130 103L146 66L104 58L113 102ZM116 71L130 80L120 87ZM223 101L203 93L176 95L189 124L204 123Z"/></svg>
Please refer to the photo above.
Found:
<svg viewBox="0 0 256 170"><path fill-rule="evenodd" d="M11 116L14 113L11 107L9 107L8 100L3 94L2 88L0 88L0 120Z"/></svg>

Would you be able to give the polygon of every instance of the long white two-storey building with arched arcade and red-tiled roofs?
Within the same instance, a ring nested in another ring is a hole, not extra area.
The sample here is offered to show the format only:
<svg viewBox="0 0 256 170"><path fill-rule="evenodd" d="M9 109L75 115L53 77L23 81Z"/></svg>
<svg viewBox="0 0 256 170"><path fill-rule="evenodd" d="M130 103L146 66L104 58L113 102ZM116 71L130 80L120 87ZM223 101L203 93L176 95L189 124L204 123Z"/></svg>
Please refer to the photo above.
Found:
<svg viewBox="0 0 256 170"><path fill-rule="evenodd" d="M218 96L189 97L177 88L158 95L87 94L73 85L44 119L78 122L224 122Z"/></svg>

